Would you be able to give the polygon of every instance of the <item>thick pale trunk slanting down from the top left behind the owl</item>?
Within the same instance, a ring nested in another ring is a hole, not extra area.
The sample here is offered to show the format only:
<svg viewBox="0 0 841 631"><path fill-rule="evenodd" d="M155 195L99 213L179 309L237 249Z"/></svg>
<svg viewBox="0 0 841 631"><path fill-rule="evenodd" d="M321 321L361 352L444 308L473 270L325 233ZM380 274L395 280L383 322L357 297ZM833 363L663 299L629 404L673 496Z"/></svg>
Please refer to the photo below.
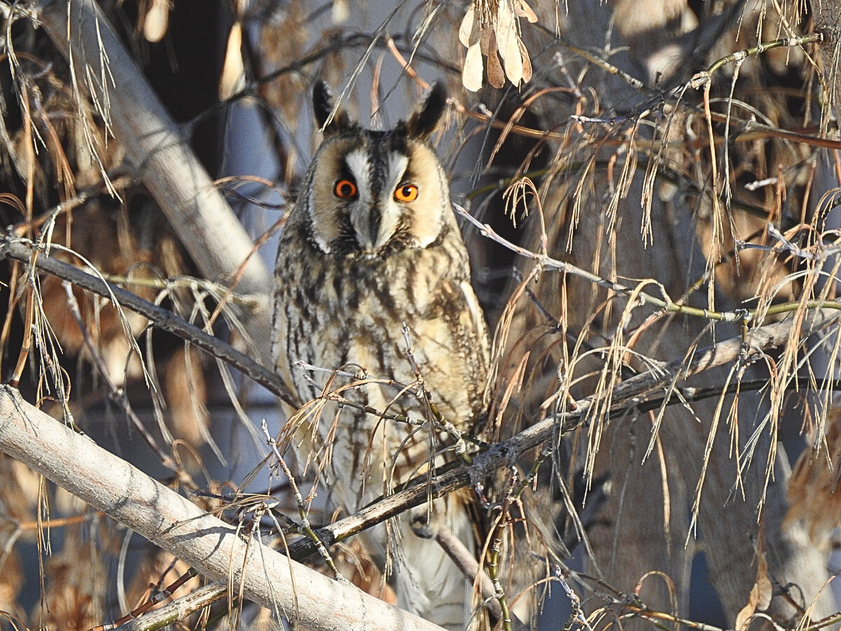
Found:
<svg viewBox="0 0 841 631"><path fill-rule="evenodd" d="M78 89L107 103L103 118L138 169L206 278L228 281L246 261L236 291L255 300L246 320L254 347L269 348L271 280L253 243L190 150L181 130L151 91L108 19L93 0L47 0L38 19L66 57ZM81 81L84 77L84 81Z"/></svg>

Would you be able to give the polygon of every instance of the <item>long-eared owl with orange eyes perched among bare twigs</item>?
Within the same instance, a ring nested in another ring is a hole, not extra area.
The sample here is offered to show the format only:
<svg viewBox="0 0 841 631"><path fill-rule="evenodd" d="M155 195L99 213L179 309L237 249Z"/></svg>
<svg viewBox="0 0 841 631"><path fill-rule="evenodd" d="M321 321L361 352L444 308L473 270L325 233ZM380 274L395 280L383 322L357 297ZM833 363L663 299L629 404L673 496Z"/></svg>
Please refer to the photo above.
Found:
<svg viewBox="0 0 841 631"><path fill-rule="evenodd" d="M320 85L314 96L323 125L329 93ZM272 355L301 403L338 391L359 406L415 421L332 401L304 408L301 459L312 454L331 503L347 513L428 469L447 445L431 428L430 402L459 429L485 408L488 332L447 179L426 141L445 105L435 87L389 131L362 130L339 110L278 247ZM313 372L299 362L355 377ZM432 526L424 532L419 523ZM468 582L434 538L419 536L434 535L435 524L469 547L470 523L458 501L435 501L399 517L398 601L433 622L464 628ZM385 529L365 542L382 561Z"/></svg>

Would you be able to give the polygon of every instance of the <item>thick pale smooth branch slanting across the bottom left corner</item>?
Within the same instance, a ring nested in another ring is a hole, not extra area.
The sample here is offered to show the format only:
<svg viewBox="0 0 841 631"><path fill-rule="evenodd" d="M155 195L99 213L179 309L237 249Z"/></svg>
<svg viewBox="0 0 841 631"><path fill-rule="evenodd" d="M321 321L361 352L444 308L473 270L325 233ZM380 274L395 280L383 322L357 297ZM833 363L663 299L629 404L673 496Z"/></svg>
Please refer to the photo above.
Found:
<svg viewBox="0 0 841 631"><path fill-rule="evenodd" d="M249 600L324 631L347 628L440 631L356 587L333 581L208 515L24 401L0 389L0 449L166 549L211 581L243 586Z"/></svg>

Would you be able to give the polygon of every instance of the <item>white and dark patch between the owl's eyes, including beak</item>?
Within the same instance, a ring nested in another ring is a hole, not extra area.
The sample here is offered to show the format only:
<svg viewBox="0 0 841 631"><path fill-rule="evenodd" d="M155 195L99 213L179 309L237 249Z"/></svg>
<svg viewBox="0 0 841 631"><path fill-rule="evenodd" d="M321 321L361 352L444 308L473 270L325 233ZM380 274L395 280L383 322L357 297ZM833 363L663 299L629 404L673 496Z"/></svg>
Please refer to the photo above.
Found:
<svg viewBox="0 0 841 631"><path fill-rule="evenodd" d="M349 172L356 180L358 194L349 205L354 234L362 253L373 257L398 230L405 212L394 199L409 158L391 153L383 162L372 162L368 152L351 151L345 157Z"/></svg>

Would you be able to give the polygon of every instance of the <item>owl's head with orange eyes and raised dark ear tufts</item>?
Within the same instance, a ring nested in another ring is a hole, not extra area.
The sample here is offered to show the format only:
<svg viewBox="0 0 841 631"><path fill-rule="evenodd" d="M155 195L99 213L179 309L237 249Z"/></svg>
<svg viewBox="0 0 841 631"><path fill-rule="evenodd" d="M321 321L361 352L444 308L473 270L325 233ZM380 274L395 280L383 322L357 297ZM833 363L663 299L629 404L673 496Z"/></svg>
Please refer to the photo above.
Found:
<svg viewBox="0 0 841 631"><path fill-rule="evenodd" d="M428 141L447 108L440 83L392 130L362 129L334 109L323 82L315 84L313 105L324 141L309 167L303 205L322 252L380 257L427 247L452 229L447 178Z"/></svg>

